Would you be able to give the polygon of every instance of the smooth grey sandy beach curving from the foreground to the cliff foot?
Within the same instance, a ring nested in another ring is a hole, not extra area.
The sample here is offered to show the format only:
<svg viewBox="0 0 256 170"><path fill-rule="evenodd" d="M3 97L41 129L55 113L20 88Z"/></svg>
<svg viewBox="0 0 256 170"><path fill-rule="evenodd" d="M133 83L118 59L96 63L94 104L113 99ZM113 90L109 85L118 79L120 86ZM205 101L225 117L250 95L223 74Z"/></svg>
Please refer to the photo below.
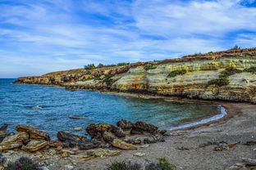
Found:
<svg viewBox="0 0 256 170"><path fill-rule="evenodd" d="M83 161L77 163L76 168L100 170L115 161L147 163L147 159L157 162L159 157L167 157L178 170L222 170L235 163L242 163L242 158L256 159L256 151L254 151L256 145L244 145L248 141L256 141L256 105L248 103L222 103L222 105L228 112L223 119L197 127L171 131L170 136L167 136L163 143L152 144L147 149L122 151L121 155L116 157ZM236 145L229 150L214 151L217 145L207 145L209 141ZM137 152L145 155L143 157L133 155Z"/></svg>

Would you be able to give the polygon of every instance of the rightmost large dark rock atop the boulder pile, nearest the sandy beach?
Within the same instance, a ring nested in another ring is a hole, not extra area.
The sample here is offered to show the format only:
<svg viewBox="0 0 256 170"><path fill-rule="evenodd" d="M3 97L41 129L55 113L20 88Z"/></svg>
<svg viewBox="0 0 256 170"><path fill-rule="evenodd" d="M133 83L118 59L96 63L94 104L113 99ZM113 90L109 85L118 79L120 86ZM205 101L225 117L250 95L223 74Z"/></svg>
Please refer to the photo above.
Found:
<svg viewBox="0 0 256 170"><path fill-rule="evenodd" d="M138 122L134 123L133 127L132 127L132 132L141 132L141 133L149 132L149 133L154 133L157 130L158 130L158 127L154 126L153 124L144 123L144 122L141 122L141 121L138 121Z"/></svg>

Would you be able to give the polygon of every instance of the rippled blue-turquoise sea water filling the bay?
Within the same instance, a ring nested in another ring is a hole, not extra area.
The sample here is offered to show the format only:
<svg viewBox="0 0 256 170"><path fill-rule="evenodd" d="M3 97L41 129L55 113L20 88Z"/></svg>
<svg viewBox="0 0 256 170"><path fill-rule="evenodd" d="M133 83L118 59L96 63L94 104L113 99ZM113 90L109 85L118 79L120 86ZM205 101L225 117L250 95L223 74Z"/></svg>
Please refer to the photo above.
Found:
<svg viewBox="0 0 256 170"><path fill-rule="evenodd" d="M17 124L29 124L55 138L57 131L85 128L88 122L116 124L120 119L127 119L153 123L159 128L176 128L223 115L217 105L179 104L163 99L11 84L14 81L0 79L0 126L12 123L9 131L14 131ZM86 119L70 119L71 115Z"/></svg>

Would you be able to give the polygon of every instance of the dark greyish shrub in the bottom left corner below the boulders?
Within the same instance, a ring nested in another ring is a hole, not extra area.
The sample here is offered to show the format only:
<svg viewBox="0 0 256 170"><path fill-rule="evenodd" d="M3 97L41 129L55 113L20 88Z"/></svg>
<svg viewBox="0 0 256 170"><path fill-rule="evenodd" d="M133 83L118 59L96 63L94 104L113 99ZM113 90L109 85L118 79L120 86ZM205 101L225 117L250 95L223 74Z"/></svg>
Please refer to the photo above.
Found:
<svg viewBox="0 0 256 170"><path fill-rule="evenodd" d="M8 163L7 170L42 170L39 167L39 163L34 162L27 157L21 157L14 163Z"/></svg>

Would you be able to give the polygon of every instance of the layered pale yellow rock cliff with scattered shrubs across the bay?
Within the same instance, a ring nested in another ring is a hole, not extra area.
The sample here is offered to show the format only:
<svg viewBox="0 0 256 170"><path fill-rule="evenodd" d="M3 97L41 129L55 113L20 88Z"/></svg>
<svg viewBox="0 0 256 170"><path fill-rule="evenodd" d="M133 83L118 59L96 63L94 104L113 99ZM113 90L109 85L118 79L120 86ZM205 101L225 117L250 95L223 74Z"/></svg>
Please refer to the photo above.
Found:
<svg viewBox="0 0 256 170"><path fill-rule="evenodd" d="M256 103L256 48L91 70L72 69L22 77L16 83Z"/></svg>

